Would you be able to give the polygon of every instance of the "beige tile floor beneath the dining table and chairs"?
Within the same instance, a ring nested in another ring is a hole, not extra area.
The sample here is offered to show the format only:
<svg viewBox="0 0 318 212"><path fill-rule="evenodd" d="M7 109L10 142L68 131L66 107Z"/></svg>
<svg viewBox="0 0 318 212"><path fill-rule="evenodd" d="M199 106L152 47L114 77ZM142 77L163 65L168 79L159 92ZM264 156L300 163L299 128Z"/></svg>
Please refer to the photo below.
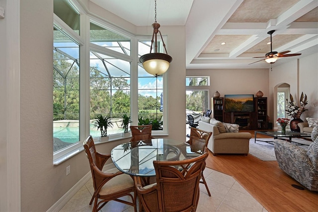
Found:
<svg viewBox="0 0 318 212"><path fill-rule="evenodd" d="M267 212L243 187L231 176L206 168L204 176L211 192L207 195L200 184L200 199L197 212ZM91 212L89 201L93 194L92 180L62 208L60 212ZM130 198L127 198L128 200ZM138 205L138 204L137 204ZM102 212L134 212L134 208L115 201L108 202Z"/></svg>

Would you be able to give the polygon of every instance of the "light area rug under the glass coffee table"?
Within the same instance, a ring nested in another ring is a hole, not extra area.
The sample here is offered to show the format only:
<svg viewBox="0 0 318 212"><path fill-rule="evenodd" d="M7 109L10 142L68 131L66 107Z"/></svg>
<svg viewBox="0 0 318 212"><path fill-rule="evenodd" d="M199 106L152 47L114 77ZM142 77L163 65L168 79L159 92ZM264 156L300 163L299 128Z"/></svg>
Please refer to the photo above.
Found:
<svg viewBox="0 0 318 212"><path fill-rule="evenodd" d="M263 161L276 161L276 155L274 151L274 143L270 142L262 142L263 141L273 141L273 138L257 138L256 143L254 143L254 138L249 139L249 154L257 157ZM312 143L311 141L307 141L300 138L293 138L293 141L306 144L300 145L299 147L307 150L308 146Z"/></svg>

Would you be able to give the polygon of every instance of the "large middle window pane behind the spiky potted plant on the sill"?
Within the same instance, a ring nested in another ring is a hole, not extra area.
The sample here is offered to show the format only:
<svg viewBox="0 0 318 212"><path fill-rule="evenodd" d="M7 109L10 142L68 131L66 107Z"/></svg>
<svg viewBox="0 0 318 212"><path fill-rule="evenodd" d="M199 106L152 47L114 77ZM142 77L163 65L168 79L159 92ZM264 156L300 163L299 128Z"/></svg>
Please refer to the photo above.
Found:
<svg viewBox="0 0 318 212"><path fill-rule="evenodd" d="M130 62L90 51L90 134L97 115L109 116L114 125L107 135L122 132L121 117L130 116Z"/></svg>

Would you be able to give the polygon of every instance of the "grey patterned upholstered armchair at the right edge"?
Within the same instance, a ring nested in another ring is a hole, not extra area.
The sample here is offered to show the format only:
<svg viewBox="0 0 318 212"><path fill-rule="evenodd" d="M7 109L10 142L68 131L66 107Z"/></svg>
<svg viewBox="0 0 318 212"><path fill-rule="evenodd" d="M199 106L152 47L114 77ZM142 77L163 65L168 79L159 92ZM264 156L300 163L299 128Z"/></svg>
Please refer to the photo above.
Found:
<svg viewBox="0 0 318 212"><path fill-rule="evenodd" d="M274 140L279 167L311 191L318 191L318 126L312 132L308 151L280 139Z"/></svg>

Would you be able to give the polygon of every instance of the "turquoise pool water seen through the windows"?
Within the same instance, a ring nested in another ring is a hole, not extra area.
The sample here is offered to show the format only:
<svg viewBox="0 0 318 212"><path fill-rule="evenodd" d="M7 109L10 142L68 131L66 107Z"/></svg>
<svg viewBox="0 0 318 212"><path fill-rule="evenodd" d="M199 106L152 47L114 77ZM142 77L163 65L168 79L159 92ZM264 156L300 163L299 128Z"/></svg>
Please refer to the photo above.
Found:
<svg viewBox="0 0 318 212"><path fill-rule="evenodd" d="M107 134L116 134L123 132L123 129L108 129ZM93 137L100 136L100 130L90 129L90 134ZM79 127L53 127L53 137L67 143L76 143L79 141Z"/></svg>

